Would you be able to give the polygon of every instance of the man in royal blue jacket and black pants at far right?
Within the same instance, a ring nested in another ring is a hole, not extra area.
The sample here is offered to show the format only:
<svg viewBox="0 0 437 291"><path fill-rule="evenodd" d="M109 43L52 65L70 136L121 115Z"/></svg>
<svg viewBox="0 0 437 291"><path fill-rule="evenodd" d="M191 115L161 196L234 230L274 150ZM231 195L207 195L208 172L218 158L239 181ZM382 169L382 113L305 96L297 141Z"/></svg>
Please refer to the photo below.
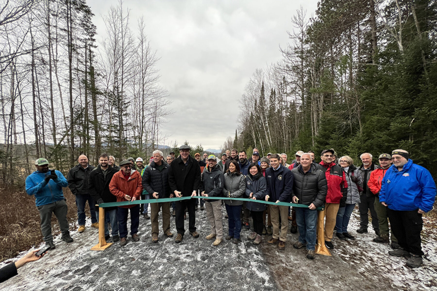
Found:
<svg viewBox="0 0 437 291"><path fill-rule="evenodd" d="M392 158L393 165L382 179L379 201L387 206L387 216L401 248L388 253L409 257L406 265L415 268L422 264L422 214L433 208L436 185L430 172L413 164L407 151L394 150Z"/></svg>

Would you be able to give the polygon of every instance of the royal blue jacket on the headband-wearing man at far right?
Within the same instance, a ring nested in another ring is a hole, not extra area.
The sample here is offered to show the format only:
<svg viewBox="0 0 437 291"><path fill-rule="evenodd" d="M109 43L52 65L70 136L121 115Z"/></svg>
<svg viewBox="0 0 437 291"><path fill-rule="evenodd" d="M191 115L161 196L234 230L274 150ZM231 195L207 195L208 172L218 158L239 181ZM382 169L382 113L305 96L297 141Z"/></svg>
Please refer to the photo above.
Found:
<svg viewBox="0 0 437 291"><path fill-rule="evenodd" d="M433 208L436 197L436 184L430 171L413 164L409 159L398 171L395 165L388 168L382 179L379 202L385 202L392 210L416 210L425 212Z"/></svg>

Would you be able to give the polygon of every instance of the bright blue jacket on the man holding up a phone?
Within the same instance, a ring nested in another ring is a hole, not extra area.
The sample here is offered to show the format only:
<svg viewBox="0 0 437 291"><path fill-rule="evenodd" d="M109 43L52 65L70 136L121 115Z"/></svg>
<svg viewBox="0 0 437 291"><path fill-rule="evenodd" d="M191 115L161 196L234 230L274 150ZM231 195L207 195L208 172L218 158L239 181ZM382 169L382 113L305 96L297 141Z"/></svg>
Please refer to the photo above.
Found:
<svg viewBox="0 0 437 291"><path fill-rule="evenodd" d="M62 187L67 187L67 179L60 171L55 170L58 178L50 179L47 183L44 178L50 175L50 170L47 173L35 171L26 178L26 192L28 195L35 195L36 206L50 204L64 199Z"/></svg>

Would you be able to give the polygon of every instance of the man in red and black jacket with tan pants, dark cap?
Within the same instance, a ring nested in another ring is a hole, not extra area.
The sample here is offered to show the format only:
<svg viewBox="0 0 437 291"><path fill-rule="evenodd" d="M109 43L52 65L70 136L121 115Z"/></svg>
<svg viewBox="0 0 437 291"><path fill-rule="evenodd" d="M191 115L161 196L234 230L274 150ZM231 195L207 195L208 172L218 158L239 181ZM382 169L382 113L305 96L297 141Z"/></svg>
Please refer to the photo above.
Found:
<svg viewBox="0 0 437 291"><path fill-rule="evenodd" d="M343 169L334 163L334 150L322 151L318 168L325 171L326 182L328 183L328 193L325 202L325 245L328 249L333 249L331 242L336 223L337 212L340 207L340 200L346 199L347 181ZM344 202L343 202L344 203Z"/></svg>

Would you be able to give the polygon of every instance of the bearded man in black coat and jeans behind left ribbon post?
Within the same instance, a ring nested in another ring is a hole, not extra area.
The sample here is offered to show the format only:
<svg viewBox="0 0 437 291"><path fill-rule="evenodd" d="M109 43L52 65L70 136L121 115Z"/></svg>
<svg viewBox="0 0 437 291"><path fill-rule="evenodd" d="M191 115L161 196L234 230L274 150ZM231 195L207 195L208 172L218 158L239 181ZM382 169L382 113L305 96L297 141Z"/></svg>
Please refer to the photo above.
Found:
<svg viewBox="0 0 437 291"><path fill-rule="evenodd" d="M111 182L112 176L117 172L117 169L109 165L108 155L101 154L99 157L99 165L91 171L90 181L88 182L88 192L94 201L96 201L96 204L117 202L117 197L112 195L111 191L109 191L109 183ZM112 241L117 242L120 239L118 236L117 207L106 207L105 217L109 217L109 221L111 222ZM108 224L104 221L101 223L105 225L105 239L108 240L110 238Z"/></svg>

